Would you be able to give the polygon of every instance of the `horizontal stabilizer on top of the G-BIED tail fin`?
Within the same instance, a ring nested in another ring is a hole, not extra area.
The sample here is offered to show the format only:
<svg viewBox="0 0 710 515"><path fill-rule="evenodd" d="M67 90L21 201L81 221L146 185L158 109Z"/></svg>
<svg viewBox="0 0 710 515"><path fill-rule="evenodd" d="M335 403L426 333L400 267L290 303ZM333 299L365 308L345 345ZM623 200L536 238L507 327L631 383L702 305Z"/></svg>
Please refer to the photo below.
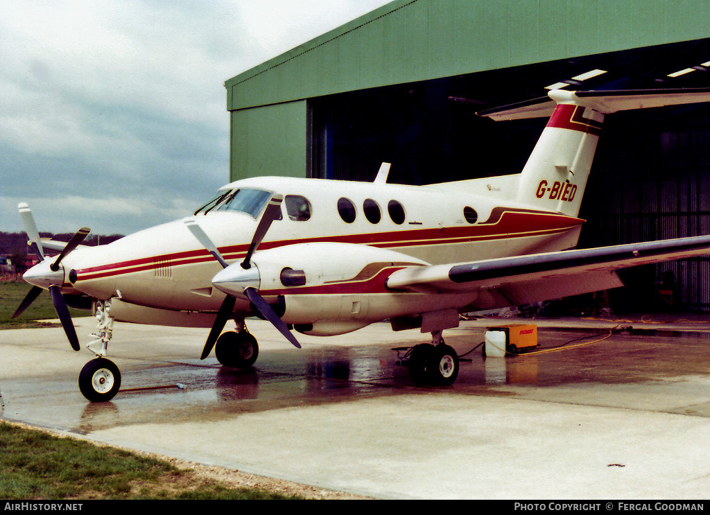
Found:
<svg viewBox="0 0 710 515"><path fill-rule="evenodd" d="M554 89L548 96L479 111L479 116L488 116L496 121L522 120L552 116L557 104L574 104L591 107L599 113L616 113L650 107L699 104L710 102L710 88L676 89L619 89L600 91L566 91Z"/></svg>

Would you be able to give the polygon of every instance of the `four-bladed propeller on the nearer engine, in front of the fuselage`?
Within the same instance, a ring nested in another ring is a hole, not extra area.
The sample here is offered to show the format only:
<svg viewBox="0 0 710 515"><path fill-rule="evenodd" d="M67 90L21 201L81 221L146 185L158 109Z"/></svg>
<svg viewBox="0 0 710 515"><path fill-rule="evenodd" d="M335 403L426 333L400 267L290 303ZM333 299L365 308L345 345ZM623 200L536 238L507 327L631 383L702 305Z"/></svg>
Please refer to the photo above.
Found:
<svg viewBox="0 0 710 515"><path fill-rule="evenodd" d="M268 206L266 206L266 209L264 210L261 219L259 220L259 223L256 226L254 235L251 238L249 250L247 250L246 255L244 256L244 260L240 263L242 269L251 269L251 256L254 252L256 252L256 248L258 248L258 245L261 243L264 236L266 236L266 233L268 232L269 228L271 228L271 224L278 217L282 201L283 196L281 195L273 195L269 200ZM230 266L232 267L231 270L234 270L234 265L229 265L224 260L222 254L220 254L219 250L217 250L217 246L214 245L214 243L212 243L212 240L209 239L209 236L207 236L207 234L202 231L202 228L197 224L197 222L195 222L194 220L187 220L185 221L185 225L190 230L192 235L195 236L195 238L197 238L200 243L202 243L202 246L204 246L204 248L206 248L207 251L214 256L214 258L219 262L220 265L222 265L222 268L224 268L224 270L226 270ZM223 272L219 273L222 274ZM250 279L254 279L253 271L249 275ZM256 272L256 277L258 278L258 272ZM222 333L224 325L229 320L232 312L234 311L236 297L234 296L234 294L231 294L231 292L225 293L226 297L224 298L224 301L222 301L222 306L219 306L219 311L217 311L217 317L214 319L212 329L210 329L209 336L207 336L207 341L204 343L202 355L200 356L201 360L207 358L209 353L212 352L212 348L214 347L214 344L217 343L217 338L219 338L219 334ZM270 321L271 324L275 328L277 328L278 331L283 334L283 336L285 336L288 341L290 341L290 343L293 343L293 345L295 345L295 347L297 348L301 348L300 343L298 343L291 331L288 330L286 324L283 323L280 317L275 313L275 311L273 311L271 306L269 306L268 302L263 297L261 297L261 295L258 294L255 288L247 287L246 289L244 289L244 295L247 299L249 299L249 301L251 301L251 304L254 306L256 311L258 311L266 320Z"/></svg>

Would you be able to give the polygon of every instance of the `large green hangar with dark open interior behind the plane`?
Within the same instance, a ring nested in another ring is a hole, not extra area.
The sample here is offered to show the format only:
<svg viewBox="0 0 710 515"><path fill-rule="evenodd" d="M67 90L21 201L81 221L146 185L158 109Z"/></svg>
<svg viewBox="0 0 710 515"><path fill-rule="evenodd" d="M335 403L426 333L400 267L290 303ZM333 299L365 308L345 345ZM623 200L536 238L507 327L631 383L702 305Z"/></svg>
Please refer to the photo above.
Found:
<svg viewBox="0 0 710 515"><path fill-rule="evenodd" d="M226 81L231 180L429 184L519 172L546 120L476 116L547 89L710 86L704 0L395 0ZM608 116L580 247L710 233L710 106ZM623 272L616 309L710 311L710 260ZM670 294L668 292L671 292Z"/></svg>

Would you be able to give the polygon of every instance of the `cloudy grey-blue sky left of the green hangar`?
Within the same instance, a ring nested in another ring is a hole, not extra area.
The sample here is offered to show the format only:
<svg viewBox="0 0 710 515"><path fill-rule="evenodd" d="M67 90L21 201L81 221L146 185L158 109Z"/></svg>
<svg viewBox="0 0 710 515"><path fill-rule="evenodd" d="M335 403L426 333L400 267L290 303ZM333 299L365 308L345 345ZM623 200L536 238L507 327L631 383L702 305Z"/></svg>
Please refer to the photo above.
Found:
<svg viewBox="0 0 710 515"><path fill-rule="evenodd" d="M229 182L224 82L390 0L0 0L0 231L128 234Z"/></svg>

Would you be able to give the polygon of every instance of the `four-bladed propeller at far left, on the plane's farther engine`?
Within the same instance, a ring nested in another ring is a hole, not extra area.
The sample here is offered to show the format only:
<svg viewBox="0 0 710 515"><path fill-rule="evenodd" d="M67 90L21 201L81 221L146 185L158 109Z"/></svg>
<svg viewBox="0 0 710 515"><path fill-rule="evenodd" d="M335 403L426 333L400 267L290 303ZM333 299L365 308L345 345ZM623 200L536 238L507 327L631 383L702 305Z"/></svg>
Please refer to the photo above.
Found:
<svg viewBox="0 0 710 515"><path fill-rule="evenodd" d="M80 243L82 243L82 241L89 236L91 230L87 227L80 228L80 230L72 236L65 248L62 249L57 258L46 266L45 261L47 261L47 258L44 255L42 240L40 239L39 232L37 231L32 211L24 202L18 204L18 209L20 211L20 218L25 228L25 232L30 240L30 244L33 245L37 254L40 256L41 263L39 265L35 265L35 267L31 270L28 270L23 276L27 282L33 284L33 287L22 300L15 313L12 315L12 318L15 319L20 316L35 301L35 299L39 297L40 293L42 293L42 290L44 289L43 287L46 287L52 297L54 309L57 311L57 316L62 323L62 328L64 328L64 332L67 335L70 345L72 345L72 349L80 350L79 338L77 338L77 331L74 328L74 323L72 323L72 316L69 314L69 308L64 300L64 297L62 297L61 285L64 284L64 272L63 270L60 272L60 264L62 260L72 252L72 250L75 250L75 248L77 248L77 246L79 246ZM39 267L39 270L35 270L37 267ZM43 287L40 287L39 284Z"/></svg>

